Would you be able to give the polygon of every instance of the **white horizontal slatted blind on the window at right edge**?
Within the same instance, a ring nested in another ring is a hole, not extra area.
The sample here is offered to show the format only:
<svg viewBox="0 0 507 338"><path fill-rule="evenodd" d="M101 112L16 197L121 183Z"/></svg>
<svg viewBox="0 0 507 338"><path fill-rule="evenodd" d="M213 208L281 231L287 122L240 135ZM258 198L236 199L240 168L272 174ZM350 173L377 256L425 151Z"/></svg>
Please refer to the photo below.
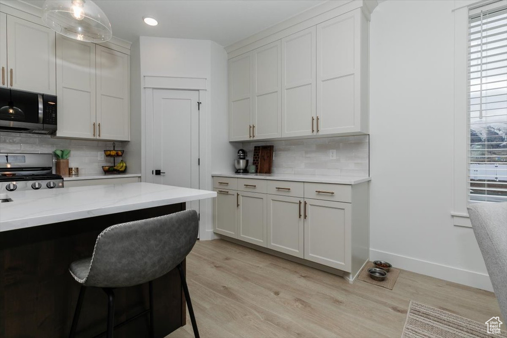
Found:
<svg viewBox="0 0 507 338"><path fill-rule="evenodd" d="M468 200L507 201L507 7L470 10Z"/></svg>

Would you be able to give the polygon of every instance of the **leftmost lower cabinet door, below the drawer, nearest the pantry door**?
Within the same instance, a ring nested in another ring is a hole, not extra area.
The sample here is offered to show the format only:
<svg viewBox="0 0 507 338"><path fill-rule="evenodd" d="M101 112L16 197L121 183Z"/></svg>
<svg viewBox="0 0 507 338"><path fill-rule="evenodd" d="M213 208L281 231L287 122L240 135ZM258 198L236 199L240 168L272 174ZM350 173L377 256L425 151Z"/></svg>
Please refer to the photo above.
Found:
<svg viewBox="0 0 507 338"><path fill-rule="evenodd" d="M238 238L237 230L237 201L238 193L225 189L213 189L214 199L213 219L214 232L217 234Z"/></svg>

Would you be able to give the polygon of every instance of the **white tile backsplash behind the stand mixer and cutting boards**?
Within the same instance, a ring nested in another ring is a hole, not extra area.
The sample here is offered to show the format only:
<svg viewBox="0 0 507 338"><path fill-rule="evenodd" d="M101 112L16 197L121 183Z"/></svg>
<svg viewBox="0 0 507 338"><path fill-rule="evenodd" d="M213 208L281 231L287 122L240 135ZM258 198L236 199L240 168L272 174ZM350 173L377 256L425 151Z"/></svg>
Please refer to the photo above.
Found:
<svg viewBox="0 0 507 338"><path fill-rule="evenodd" d="M268 144L274 146L273 173L369 176L368 135L242 143L250 164L253 147ZM331 149L336 150L334 160Z"/></svg>

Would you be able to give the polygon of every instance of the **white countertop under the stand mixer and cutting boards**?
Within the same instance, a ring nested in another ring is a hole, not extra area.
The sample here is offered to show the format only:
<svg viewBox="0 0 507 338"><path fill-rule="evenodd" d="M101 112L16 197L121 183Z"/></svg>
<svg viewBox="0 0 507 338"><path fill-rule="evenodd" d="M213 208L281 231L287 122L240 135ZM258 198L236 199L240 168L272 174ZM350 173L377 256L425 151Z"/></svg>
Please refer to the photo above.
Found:
<svg viewBox="0 0 507 338"><path fill-rule="evenodd" d="M211 176L237 177L237 178L259 178L280 181L298 181L313 183L335 183L335 184L357 184L371 180L370 177L360 176L328 176L328 175L297 175L297 174L236 174L236 173L215 173Z"/></svg>

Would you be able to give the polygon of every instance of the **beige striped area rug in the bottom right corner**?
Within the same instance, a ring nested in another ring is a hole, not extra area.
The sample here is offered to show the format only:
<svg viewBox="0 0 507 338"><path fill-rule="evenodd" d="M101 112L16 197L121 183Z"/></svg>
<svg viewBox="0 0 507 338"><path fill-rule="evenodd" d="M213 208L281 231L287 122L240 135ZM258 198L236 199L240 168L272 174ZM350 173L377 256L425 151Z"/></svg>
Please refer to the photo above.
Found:
<svg viewBox="0 0 507 338"><path fill-rule="evenodd" d="M505 338L505 331L488 333L485 323L479 323L447 311L410 301L402 338Z"/></svg>

